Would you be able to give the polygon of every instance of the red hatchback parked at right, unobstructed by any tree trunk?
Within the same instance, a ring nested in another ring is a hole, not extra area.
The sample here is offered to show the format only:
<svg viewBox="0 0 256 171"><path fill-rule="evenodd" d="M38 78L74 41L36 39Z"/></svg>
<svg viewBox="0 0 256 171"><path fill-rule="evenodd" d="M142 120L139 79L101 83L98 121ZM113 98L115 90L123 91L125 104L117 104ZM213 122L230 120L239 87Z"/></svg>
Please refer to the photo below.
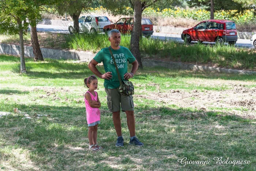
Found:
<svg viewBox="0 0 256 171"><path fill-rule="evenodd" d="M196 26L184 30L181 39L191 43L198 42L228 42L230 45L236 44L237 30L236 23L229 20L206 20Z"/></svg>

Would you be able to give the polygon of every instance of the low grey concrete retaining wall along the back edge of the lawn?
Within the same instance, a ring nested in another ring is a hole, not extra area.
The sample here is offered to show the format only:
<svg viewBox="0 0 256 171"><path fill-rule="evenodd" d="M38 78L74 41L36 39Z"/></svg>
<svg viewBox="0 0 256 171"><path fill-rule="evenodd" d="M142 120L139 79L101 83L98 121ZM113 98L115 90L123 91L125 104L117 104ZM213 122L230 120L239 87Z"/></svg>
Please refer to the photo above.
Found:
<svg viewBox="0 0 256 171"><path fill-rule="evenodd" d="M25 57L34 58L33 49L30 46L24 46ZM41 48L44 58L53 58L53 59L73 59L79 61L89 62L96 55L91 52L71 52L65 50L54 50ZM20 47L19 45L9 45L0 43L0 54L10 54L13 56L20 56ZM208 71L208 72L223 72L223 73L236 73L236 74L246 74L246 75L256 75L256 72L253 71L241 71L236 69L225 69L225 68L214 68L209 66L198 66L198 65L187 65L177 62L167 62L167 61L157 61L157 60L146 60L142 59L143 66L160 66L170 69L182 69L182 70L192 70L192 71Z"/></svg>

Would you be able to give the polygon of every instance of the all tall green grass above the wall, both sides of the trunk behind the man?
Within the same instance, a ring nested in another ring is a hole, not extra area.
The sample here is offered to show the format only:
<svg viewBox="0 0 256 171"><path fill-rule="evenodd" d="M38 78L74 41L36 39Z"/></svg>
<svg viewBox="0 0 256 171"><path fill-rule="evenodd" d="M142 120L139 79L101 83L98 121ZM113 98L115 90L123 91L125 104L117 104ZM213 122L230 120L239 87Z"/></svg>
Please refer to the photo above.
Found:
<svg viewBox="0 0 256 171"><path fill-rule="evenodd" d="M70 49L98 52L104 47L110 46L106 34L75 34L69 35L67 45ZM130 49L130 35L121 36L121 46ZM256 69L256 52L246 48L237 49L230 45L204 45L196 43L187 45L166 38L147 39L140 41L142 55L168 57L171 60L181 62L199 62L207 64L211 62L219 67Z"/></svg>

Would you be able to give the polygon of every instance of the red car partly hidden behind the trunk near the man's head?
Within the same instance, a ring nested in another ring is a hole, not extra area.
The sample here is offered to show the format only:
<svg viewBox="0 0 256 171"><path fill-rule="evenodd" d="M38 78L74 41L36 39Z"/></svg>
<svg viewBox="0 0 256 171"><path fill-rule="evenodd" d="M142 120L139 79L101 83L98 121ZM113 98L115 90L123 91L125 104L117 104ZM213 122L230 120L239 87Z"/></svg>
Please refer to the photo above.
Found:
<svg viewBox="0 0 256 171"><path fill-rule="evenodd" d="M145 37L150 37L151 35L153 35L154 33L153 24L149 19L142 18L141 26L142 26L142 35L144 35ZM133 28L133 18L121 18L114 24L104 26L103 31L105 33L108 33L112 29L117 29L123 34L125 33L129 34L131 33L132 28Z"/></svg>

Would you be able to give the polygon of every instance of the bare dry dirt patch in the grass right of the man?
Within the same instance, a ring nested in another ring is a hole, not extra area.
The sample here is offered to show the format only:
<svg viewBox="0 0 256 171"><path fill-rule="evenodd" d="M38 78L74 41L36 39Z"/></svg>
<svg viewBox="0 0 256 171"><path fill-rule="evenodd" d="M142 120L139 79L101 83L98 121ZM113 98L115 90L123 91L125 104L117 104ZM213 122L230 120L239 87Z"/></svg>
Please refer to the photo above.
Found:
<svg viewBox="0 0 256 171"><path fill-rule="evenodd" d="M239 81L238 81L239 82ZM218 81L210 84L218 86ZM136 84L136 86L139 86ZM158 84L152 83L149 86ZM134 95L134 98L146 98L160 103L175 104L178 107L197 109L198 111L214 111L241 118L256 119L256 87L246 88L245 85L228 83L229 90L190 92L170 90L169 92L151 92L147 95ZM160 90L160 89L159 89Z"/></svg>

